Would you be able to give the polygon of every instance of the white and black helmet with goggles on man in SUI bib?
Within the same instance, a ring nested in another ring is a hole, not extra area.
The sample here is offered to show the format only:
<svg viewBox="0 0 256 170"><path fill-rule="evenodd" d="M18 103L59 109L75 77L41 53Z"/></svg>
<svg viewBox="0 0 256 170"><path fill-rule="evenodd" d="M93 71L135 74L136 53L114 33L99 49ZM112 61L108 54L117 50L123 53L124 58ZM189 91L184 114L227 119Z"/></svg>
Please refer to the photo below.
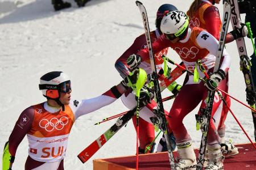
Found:
<svg viewBox="0 0 256 170"><path fill-rule="evenodd" d="M62 71L52 71L40 78L39 90L47 99L59 99L60 92L71 90L71 81Z"/></svg>

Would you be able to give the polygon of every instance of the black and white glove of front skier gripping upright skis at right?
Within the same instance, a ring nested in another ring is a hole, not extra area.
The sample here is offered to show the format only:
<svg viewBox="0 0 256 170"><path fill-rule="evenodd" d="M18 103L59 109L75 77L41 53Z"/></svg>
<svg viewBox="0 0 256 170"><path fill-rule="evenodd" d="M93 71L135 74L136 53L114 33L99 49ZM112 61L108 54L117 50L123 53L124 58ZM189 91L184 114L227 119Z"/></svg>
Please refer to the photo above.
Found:
<svg viewBox="0 0 256 170"><path fill-rule="evenodd" d="M221 80L225 79L225 76L225 72L219 69L218 71L210 75L209 80L204 83L204 86L206 86L210 91L214 91L218 87L218 83L220 83Z"/></svg>

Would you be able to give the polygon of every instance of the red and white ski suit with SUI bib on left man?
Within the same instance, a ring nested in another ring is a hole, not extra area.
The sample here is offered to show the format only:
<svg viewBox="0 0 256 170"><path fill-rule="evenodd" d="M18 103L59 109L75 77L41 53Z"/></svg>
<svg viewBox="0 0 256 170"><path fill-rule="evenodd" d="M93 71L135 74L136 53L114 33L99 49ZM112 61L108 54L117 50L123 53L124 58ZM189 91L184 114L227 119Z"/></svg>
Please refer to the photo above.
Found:
<svg viewBox="0 0 256 170"><path fill-rule="evenodd" d="M62 170L68 137L73 123L82 115L113 103L117 97L111 90L86 100L71 100L65 111L47 102L25 109L9 137L9 152L15 156L25 135L28 139L28 158L25 170Z"/></svg>

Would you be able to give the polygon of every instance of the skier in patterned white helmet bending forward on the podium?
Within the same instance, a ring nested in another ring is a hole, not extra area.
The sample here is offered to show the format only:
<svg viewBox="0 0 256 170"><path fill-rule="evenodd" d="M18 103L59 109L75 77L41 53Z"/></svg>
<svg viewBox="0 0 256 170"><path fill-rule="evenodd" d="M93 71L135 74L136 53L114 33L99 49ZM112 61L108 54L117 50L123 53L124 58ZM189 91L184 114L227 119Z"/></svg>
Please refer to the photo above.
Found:
<svg viewBox="0 0 256 170"><path fill-rule="evenodd" d="M185 67L194 71L195 68L201 77L204 73L197 65L200 60L208 74L213 72L213 67L217 55L218 41L210 35L205 29L189 27L189 18L182 11L171 11L163 17L160 24L163 35L152 44L152 50L159 52L160 50L171 47L180 56L185 63ZM142 61L148 59L148 49L140 50L137 55L141 56ZM193 75L187 74L183 87L176 96L171 107L168 122L171 126L177 143L177 151L179 153L179 162L176 163L176 169L196 169L196 155L192 147L192 139L183 125L183 118L191 112L196 106L200 105L200 111L206 107L205 99L209 90L215 90L217 87L225 90L225 76L230 66L230 56L224 49L220 69L210 75L207 83L198 80L193 81ZM212 117L210 120L208 131L208 154L209 164L205 169L221 169L223 168L223 156L220 146L220 137L217 133L217 127L220 122L220 113L216 112L221 100L218 95L215 96Z"/></svg>

